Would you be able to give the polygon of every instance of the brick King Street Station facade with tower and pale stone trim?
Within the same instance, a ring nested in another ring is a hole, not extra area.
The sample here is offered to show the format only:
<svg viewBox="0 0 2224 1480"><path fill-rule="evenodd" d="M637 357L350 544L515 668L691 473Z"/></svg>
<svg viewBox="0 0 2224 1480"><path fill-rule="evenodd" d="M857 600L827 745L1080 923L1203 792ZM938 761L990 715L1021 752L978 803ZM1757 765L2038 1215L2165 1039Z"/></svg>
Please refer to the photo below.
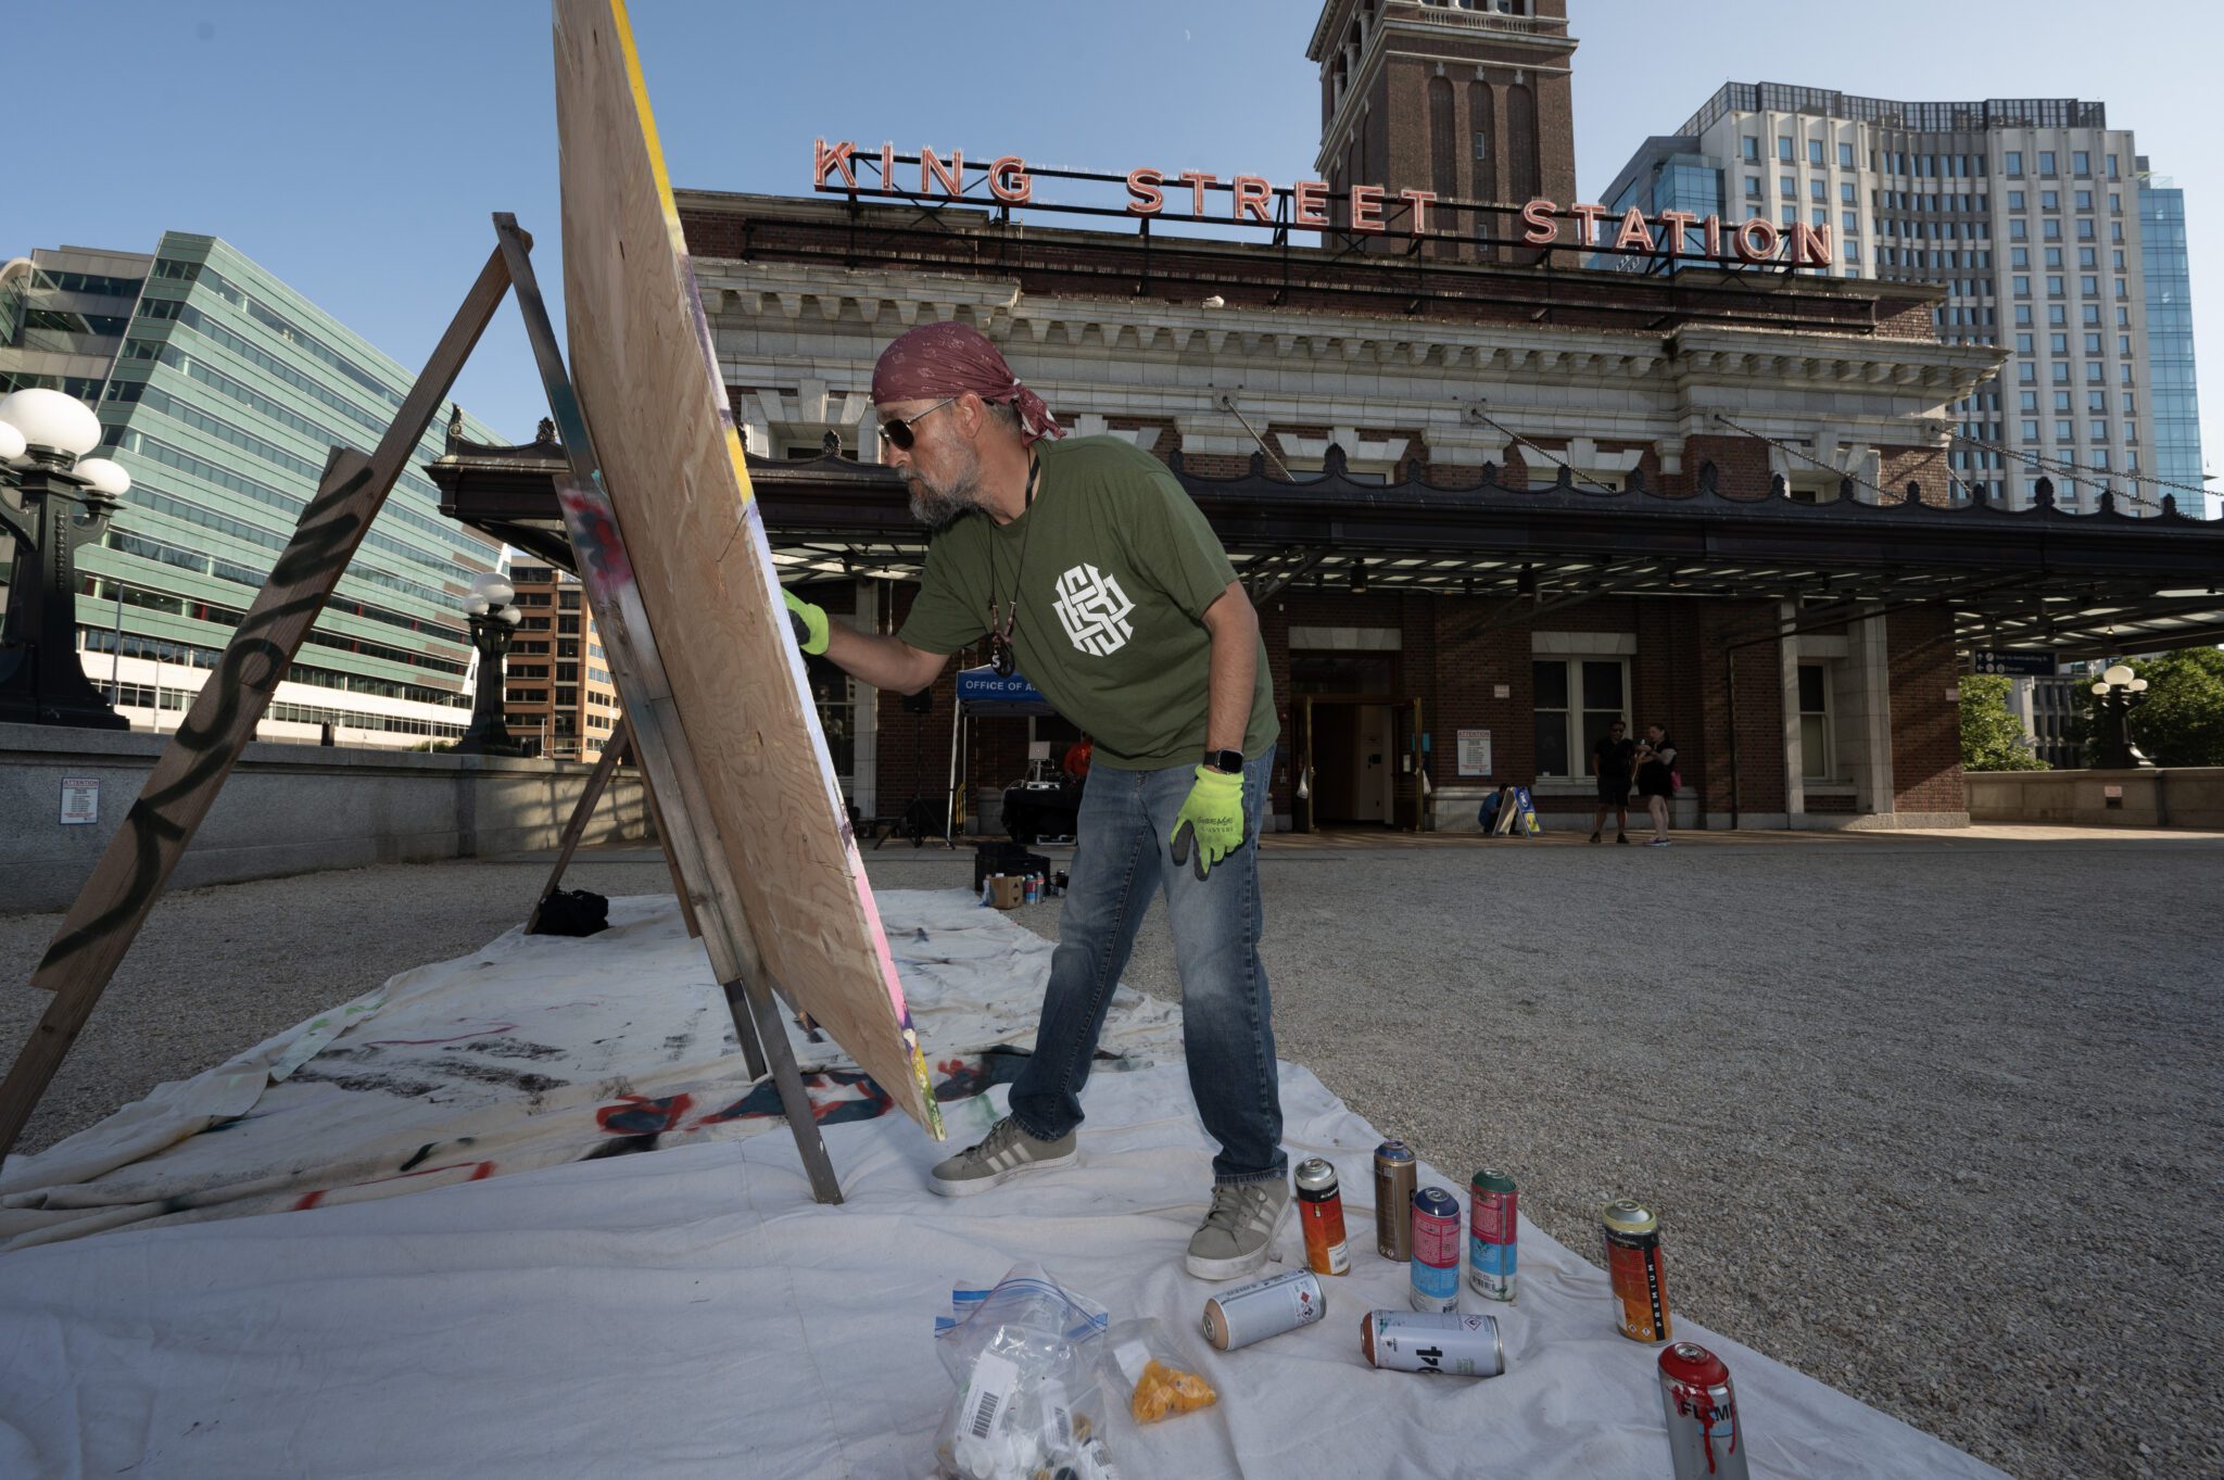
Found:
<svg viewBox="0 0 2224 1480"><path fill-rule="evenodd" d="M1397 191L1426 189L1466 207L1439 216L1457 222L1448 240L1330 229L1314 247L1072 229L872 191L681 191L734 420L761 458L834 447L872 460L874 358L916 322L965 320L1068 429L1174 460L1192 487L1254 467L1292 489L1323 471L1363 484L1290 582L1252 580L1274 556L1248 542L1241 504L1212 504L1259 598L1283 716L1283 827L1472 827L1499 782L1532 784L1548 813L1588 813L1590 740L1610 716L1632 731L1668 724L1681 824L1966 820L1944 609L1873 602L1813 627L1804 613L1824 593L1790 569L1739 582L1730 567L1701 593L1672 576L1601 580L1612 560L1566 549L1530 562L1466 549L1457 580L1432 576L1426 549L1374 549L1377 484L1559 480L1597 493L1586 518L1624 544L1632 511L1715 489L1950 500L1942 409L1999 353L1939 342L1937 289L1601 271L1588 253L1521 247L1519 202L1575 200L1572 53L1563 0L1323 4L1308 56L1334 220L1350 222L1359 184L1392 207ZM916 538L896 544L792 553L783 576L894 631ZM1615 560L1630 569L1628 553ZM952 671L927 713L814 676L861 813L894 816L912 796L939 804ZM1488 773L1461 773L1463 731L1470 760L1488 731ZM967 802L1025 773L1030 733L1065 731L974 727Z"/></svg>

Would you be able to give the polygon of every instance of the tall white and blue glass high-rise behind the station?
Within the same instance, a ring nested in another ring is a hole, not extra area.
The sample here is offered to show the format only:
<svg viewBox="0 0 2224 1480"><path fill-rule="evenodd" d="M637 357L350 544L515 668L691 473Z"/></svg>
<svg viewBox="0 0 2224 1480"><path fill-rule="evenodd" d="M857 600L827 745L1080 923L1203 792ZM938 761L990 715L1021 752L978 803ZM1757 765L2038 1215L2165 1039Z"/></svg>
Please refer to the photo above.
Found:
<svg viewBox="0 0 2224 1480"><path fill-rule="evenodd" d="M2157 513L2162 384L2180 467L2193 393L2191 329L2155 360L2155 273L2186 324L2182 202L2142 182L2128 129L2077 98L1897 102L1817 87L1728 82L1672 136L1646 140L1604 204L1773 216L1833 233L1844 276L1935 282L1950 344L2010 351L1999 378L1950 404L1962 496L2093 509L2104 489ZM1708 178L1719 191L1708 196ZM1690 198L1688 202L1684 198ZM2155 247L2144 231L2155 222ZM2171 236L2171 222L2177 222ZM2180 409L2184 407L2184 409ZM2197 462L2197 433L2193 433ZM2202 500L2175 491L2186 513Z"/></svg>

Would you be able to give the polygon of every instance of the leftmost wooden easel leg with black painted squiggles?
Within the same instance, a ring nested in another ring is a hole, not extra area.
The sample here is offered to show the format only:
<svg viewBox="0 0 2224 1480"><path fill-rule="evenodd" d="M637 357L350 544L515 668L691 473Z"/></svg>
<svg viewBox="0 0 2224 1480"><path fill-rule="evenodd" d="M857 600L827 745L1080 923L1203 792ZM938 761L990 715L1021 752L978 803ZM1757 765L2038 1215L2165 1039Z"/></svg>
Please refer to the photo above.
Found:
<svg viewBox="0 0 2224 1480"><path fill-rule="evenodd" d="M0 1156L22 1136L69 1044L93 1016L109 978L162 898L171 869L216 804L231 764L254 740L256 724L269 709L287 664L300 651L309 624L331 598L340 571L354 558L394 480L416 456L425 427L447 400L456 371L463 369L507 291L509 269L496 251L465 293L409 396L403 398L378 449L371 456L347 447L331 449L316 498L302 509L285 553L231 631L216 671L156 758L138 800L109 838L100 862L93 864L93 873L31 973L33 987L53 993L53 1007L31 1029L16 1067L0 1082Z"/></svg>

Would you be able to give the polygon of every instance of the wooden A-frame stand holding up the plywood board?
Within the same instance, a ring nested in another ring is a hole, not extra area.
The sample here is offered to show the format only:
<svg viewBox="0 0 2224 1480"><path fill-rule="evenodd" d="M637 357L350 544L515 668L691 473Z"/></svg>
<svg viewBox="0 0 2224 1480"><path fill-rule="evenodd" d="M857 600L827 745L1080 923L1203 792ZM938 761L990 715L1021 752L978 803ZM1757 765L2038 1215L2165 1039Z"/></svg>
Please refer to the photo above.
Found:
<svg viewBox="0 0 2224 1480"><path fill-rule="evenodd" d="M772 1073L787 1129L796 1138L796 1151L810 1176L812 1196L821 1202L841 1202L841 1184L818 1136L818 1122L812 1118L803 1073L796 1069L796 1056L774 1000L774 984L756 951L756 940L749 936L741 896L723 851L703 836L701 820L709 818L703 804L703 776L681 729L656 638L638 616L641 602L632 591L629 562L623 558L623 536L609 504L609 491L603 487L594 438L578 398L572 393L572 376L565 369L527 256L532 238L507 213L494 218L494 253L447 333L434 347L425 371L409 387L409 396L378 449L365 456L351 447L336 447L327 458L325 476L302 509L294 540L271 567L254 607L231 633L222 660L162 749L140 798L131 804L116 836L109 838L100 862L93 864L93 873L85 880L69 913L62 916L62 927L33 969L31 984L51 991L53 1002L31 1029L31 1038L7 1080L0 1080L0 1156L22 1136L24 1122L91 1018L93 1004L109 978L116 976L116 967L122 964L147 922L147 913L162 896L171 869L209 816L234 762L254 740L256 722L269 707L278 680L285 678L311 622L331 598L334 584L369 531L371 518L385 504L418 438L425 436L440 402L447 400L456 373L471 347L478 344L487 320L494 318L503 296L516 291L525 333L547 389L549 413L556 418L556 431L569 458L569 471L558 491L565 531L574 551L618 551L616 560L605 553L603 564L592 573L583 569L580 578L589 600L598 589L605 598L596 602L596 624L603 633L603 651L609 658L618 702L625 709L623 742L641 762L652 807L656 807L658 833L674 869L681 907L687 911L689 933L701 933L712 969L725 984L734 1036L749 1073L756 1078L767 1069ZM620 736L614 733L609 749L605 749L605 764L596 767L587 796L572 827L565 829L563 856L549 889L563 876L572 849L578 847L578 833L585 829L594 796L609 780L609 769L618 764L618 747ZM543 891L545 896L547 891ZM538 916L538 902L534 913Z"/></svg>

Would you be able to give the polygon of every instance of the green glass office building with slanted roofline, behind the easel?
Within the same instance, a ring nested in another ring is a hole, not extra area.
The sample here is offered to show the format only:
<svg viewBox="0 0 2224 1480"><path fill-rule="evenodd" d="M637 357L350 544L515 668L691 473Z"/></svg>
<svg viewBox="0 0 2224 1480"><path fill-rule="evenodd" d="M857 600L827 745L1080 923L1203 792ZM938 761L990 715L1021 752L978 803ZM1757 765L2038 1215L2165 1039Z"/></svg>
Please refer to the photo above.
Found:
<svg viewBox="0 0 2224 1480"><path fill-rule="evenodd" d="M40 251L0 289L0 389L96 400L122 513L78 553L78 647L138 729L173 729L287 547L331 447L371 449L414 373L209 236ZM411 747L469 722L463 598L500 547L405 467L271 700L265 740ZM500 440L465 420L480 440Z"/></svg>

